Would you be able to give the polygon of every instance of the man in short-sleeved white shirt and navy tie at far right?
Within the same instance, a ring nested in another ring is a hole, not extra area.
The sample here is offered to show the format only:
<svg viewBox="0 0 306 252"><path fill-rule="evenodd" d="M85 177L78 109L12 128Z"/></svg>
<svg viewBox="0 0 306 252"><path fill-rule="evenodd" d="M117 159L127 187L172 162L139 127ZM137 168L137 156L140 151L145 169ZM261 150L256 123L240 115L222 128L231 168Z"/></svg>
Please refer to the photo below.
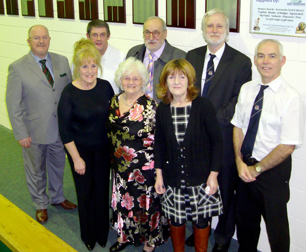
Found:
<svg viewBox="0 0 306 252"><path fill-rule="evenodd" d="M240 252L257 251L261 215L271 251L289 251L291 154L303 144L305 106L281 75L285 62L277 40L256 46L254 64L261 77L242 86L231 121L241 178L236 212Z"/></svg>

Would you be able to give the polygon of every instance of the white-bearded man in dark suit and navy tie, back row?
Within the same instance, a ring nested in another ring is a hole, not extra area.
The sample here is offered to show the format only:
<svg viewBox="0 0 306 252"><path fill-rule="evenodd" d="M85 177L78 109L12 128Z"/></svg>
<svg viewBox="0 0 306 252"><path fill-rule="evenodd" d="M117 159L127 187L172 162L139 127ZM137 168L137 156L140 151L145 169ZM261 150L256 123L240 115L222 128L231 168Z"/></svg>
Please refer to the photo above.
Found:
<svg viewBox="0 0 306 252"><path fill-rule="evenodd" d="M235 189L238 174L233 150L233 125L231 119L241 86L251 80L251 61L243 53L230 47L229 21L219 9L208 11L202 19L201 30L207 46L188 51L188 60L196 71L195 86L203 97L214 105L223 138L222 167L218 175L224 213L219 216L213 252L227 251L235 233ZM193 246L189 237L186 245Z"/></svg>

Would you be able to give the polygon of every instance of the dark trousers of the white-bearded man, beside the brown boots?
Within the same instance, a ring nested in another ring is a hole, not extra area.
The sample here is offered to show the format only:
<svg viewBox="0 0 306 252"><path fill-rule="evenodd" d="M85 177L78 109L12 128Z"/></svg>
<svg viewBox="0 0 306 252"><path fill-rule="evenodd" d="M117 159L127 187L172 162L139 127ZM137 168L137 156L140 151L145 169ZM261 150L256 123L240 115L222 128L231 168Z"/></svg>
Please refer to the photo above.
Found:
<svg viewBox="0 0 306 252"><path fill-rule="evenodd" d="M236 230L236 194L238 185L238 172L236 164L222 166L218 174L224 213L219 215L218 225L214 237L217 244L224 245L231 242Z"/></svg>

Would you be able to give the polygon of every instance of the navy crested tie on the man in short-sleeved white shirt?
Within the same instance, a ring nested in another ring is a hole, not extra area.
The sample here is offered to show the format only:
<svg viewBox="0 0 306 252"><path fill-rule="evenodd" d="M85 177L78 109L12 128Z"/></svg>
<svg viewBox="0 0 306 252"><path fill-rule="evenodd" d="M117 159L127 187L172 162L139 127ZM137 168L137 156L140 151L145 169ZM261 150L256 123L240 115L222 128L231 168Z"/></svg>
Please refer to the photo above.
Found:
<svg viewBox="0 0 306 252"><path fill-rule="evenodd" d="M246 158L250 158L253 153L255 138L258 131L259 119L261 116L261 110L263 109L264 90L268 87L268 85L261 85L260 91L256 96L253 104L249 125L247 127L247 131L241 146L241 154Z"/></svg>

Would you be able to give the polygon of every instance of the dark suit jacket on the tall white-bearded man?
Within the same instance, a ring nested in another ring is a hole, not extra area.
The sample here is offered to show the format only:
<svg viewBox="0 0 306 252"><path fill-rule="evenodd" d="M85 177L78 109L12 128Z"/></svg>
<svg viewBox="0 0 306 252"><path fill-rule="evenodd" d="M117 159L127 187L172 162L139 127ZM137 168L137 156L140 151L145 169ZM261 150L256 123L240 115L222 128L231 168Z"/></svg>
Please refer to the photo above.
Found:
<svg viewBox="0 0 306 252"><path fill-rule="evenodd" d="M207 45L187 52L186 60L195 69L195 86L201 90L201 79ZM235 163L233 125L231 120L241 86L252 78L251 60L225 43L225 49L215 71L207 98L213 103L223 138L222 166Z"/></svg>

